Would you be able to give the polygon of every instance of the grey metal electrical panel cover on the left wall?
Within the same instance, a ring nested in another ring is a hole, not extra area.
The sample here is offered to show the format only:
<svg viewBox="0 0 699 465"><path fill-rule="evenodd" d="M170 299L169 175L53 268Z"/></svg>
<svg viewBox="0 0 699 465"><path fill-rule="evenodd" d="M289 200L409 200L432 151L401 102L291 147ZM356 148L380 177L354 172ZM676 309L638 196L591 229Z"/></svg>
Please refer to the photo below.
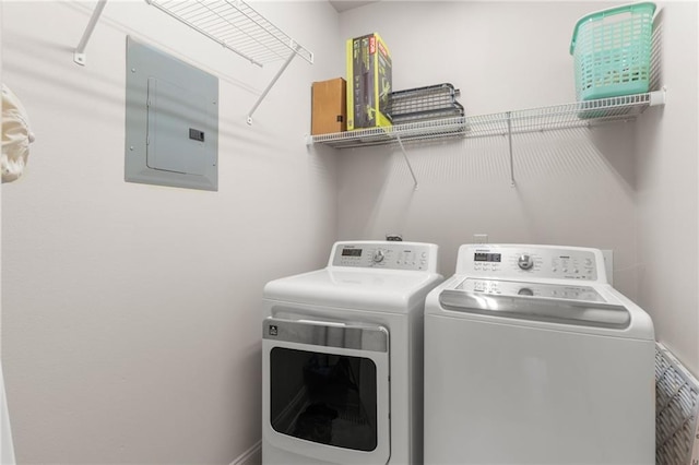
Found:
<svg viewBox="0 0 699 465"><path fill-rule="evenodd" d="M218 190L218 80L127 37L129 182Z"/></svg>

